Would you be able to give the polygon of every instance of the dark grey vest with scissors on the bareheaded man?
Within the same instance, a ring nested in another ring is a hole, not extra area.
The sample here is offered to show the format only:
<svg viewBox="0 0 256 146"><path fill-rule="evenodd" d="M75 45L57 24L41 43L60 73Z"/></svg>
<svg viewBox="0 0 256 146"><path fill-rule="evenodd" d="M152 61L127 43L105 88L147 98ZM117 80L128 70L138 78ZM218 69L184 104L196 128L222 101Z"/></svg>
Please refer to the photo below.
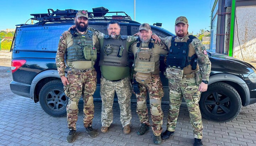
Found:
<svg viewBox="0 0 256 146"><path fill-rule="evenodd" d="M119 39L112 39L104 36L104 43L100 50L99 65L130 66L129 54L126 47L127 36L120 36Z"/></svg>

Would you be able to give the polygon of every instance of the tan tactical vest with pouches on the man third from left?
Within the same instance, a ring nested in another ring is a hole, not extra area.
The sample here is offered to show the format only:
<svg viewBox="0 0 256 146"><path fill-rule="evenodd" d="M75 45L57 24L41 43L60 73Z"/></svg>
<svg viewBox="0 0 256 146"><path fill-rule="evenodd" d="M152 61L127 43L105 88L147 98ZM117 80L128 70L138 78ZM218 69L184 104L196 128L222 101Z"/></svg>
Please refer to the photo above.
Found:
<svg viewBox="0 0 256 146"><path fill-rule="evenodd" d="M134 70L141 73L150 73L155 71L156 65L159 65L159 62L155 62L155 54L151 46L142 47L140 42L137 43L138 50L134 57Z"/></svg>

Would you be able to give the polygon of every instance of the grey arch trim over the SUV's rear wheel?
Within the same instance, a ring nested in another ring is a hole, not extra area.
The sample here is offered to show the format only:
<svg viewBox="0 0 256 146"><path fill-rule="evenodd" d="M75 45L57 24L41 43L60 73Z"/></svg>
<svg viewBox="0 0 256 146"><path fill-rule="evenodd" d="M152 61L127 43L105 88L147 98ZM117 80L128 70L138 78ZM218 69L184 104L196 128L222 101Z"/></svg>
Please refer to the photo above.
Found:
<svg viewBox="0 0 256 146"><path fill-rule="evenodd" d="M60 76L58 70L46 70L42 71L34 77L30 86L30 98L34 100L35 103L39 101L39 92L41 88L49 81L59 79Z"/></svg>

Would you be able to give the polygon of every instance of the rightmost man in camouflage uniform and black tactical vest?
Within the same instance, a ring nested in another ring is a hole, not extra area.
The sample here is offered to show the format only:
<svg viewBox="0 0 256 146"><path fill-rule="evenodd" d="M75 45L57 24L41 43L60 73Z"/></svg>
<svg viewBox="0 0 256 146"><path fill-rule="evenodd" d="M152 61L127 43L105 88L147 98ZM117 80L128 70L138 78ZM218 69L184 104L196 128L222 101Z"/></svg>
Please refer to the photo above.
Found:
<svg viewBox="0 0 256 146"><path fill-rule="evenodd" d="M207 90L211 63L202 42L198 38L190 35L187 30L188 20L186 17L180 16L175 21L176 36L162 39L162 42L170 48L166 61L166 76L169 79L170 108L167 117L167 130L161 134L161 137L162 139L168 139L170 135L174 134L181 99L184 97L193 127L194 146L201 146L203 123L198 102L201 92ZM180 47L181 54L175 56L173 54L177 51L177 47ZM177 57L187 53L186 50L183 50L182 54L182 48L188 49L188 55L186 57L188 60L186 60L187 64L185 66L174 64ZM197 61L202 64L200 69Z"/></svg>

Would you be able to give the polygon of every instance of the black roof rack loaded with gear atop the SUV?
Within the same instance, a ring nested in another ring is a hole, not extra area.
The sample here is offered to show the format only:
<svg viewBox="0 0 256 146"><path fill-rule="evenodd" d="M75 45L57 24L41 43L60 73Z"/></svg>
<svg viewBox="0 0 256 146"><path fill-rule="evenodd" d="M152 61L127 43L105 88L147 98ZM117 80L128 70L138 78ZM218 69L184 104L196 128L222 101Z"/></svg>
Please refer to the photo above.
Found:
<svg viewBox="0 0 256 146"><path fill-rule="evenodd" d="M99 7L99 8L104 8L104 7ZM38 24L45 24L48 22L51 22L51 23L74 22L74 18L77 12L78 10L73 10L73 9L66 9L66 10L57 9L56 11L54 11L53 9L48 9L48 13L30 14L31 16L34 16L33 18L30 18L30 19L39 21ZM105 16L106 14L111 16ZM133 21L129 15L127 15L125 12L122 12L122 11L108 12L107 10L107 11L88 12L88 16L89 16L90 22L109 22L109 21L115 20L118 22L140 24L136 21Z"/></svg>

